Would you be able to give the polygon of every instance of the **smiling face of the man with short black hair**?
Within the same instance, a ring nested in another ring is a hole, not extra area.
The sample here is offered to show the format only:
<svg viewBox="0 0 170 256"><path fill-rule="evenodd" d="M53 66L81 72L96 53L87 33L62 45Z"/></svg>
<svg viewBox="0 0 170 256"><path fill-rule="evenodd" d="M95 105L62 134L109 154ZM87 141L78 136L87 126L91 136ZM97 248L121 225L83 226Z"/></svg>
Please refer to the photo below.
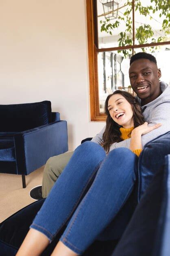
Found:
<svg viewBox="0 0 170 256"><path fill-rule="evenodd" d="M145 105L160 94L159 78L161 71L157 65L148 59L139 59L134 61L129 68L129 79L132 89L141 99L142 105Z"/></svg>

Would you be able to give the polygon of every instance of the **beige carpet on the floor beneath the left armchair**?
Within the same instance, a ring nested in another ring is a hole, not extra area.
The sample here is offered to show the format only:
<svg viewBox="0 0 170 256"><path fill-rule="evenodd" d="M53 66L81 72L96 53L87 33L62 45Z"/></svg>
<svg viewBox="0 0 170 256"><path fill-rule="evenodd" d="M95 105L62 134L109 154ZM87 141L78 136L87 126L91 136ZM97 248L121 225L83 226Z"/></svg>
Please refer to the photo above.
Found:
<svg viewBox="0 0 170 256"><path fill-rule="evenodd" d="M26 188L22 188L22 176L0 173L0 222L28 204L35 202L29 196L34 186L42 184L44 166L26 176Z"/></svg>

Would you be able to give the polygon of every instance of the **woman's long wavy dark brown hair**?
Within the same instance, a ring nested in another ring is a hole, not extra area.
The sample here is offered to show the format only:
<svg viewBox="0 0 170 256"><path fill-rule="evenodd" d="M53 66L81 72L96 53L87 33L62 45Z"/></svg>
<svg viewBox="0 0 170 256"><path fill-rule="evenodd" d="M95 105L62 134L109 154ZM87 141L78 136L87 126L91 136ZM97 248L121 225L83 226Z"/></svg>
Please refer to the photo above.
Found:
<svg viewBox="0 0 170 256"><path fill-rule="evenodd" d="M137 99L130 94L129 92L116 90L112 94L109 94L107 96L107 99L105 101L105 114L107 115L106 119L106 129L103 133L103 142L101 143L101 146L105 149L106 153L109 152L109 148L111 144L114 142L120 142L123 139L120 138L121 132L120 132L120 125L118 125L110 116L109 110L108 110L108 101L111 96L114 94L121 94L132 106L133 110L133 121L134 121L134 128L137 126L144 124L144 117L142 115L142 110L139 105L139 102Z"/></svg>

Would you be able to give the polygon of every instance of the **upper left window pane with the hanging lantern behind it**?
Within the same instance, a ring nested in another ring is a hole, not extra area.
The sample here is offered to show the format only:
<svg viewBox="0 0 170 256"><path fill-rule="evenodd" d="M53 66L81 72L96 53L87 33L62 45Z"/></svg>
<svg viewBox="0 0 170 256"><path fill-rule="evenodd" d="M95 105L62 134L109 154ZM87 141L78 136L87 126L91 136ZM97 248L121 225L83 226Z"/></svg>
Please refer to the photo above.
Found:
<svg viewBox="0 0 170 256"><path fill-rule="evenodd" d="M125 32L126 45L133 44L132 1L128 2L129 4L127 4L127 0L97 0L99 48L124 46ZM124 20L125 11L130 11L128 15L129 27L126 26L126 20ZM107 12L109 14L105 15ZM126 31L126 29L129 29L129 31Z"/></svg>

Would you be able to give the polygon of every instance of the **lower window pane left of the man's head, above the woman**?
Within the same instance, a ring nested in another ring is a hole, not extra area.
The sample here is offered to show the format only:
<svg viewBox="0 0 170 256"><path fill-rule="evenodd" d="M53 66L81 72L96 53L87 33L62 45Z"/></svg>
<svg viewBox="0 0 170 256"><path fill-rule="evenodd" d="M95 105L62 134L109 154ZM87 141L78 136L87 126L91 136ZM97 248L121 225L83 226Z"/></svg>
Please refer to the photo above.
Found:
<svg viewBox="0 0 170 256"><path fill-rule="evenodd" d="M130 55L131 56L131 55ZM115 90L132 92L129 82L129 58L123 52L98 53L98 91L100 112L104 112L104 104L108 94Z"/></svg>

